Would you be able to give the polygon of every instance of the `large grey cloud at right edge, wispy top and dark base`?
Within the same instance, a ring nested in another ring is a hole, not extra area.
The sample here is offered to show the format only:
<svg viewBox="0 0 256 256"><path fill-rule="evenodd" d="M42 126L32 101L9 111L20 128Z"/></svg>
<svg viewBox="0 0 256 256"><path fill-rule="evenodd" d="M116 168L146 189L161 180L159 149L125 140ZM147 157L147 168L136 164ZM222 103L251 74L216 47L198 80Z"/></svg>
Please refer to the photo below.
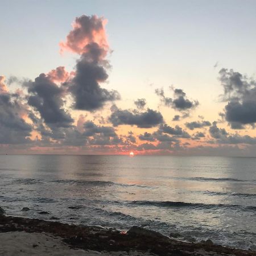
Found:
<svg viewBox="0 0 256 256"><path fill-rule="evenodd" d="M225 106L225 119L233 129L243 129L243 125L256 122L256 82L233 69L222 68L219 80L224 88L222 101Z"/></svg>

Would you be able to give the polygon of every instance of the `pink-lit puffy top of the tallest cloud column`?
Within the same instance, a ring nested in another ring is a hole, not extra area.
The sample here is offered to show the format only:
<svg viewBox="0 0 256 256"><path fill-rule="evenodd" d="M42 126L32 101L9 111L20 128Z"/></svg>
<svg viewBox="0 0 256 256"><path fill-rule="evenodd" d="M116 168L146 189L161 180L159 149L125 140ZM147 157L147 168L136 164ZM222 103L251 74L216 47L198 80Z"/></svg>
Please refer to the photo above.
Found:
<svg viewBox="0 0 256 256"><path fill-rule="evenodd" d="M71 51L81 55L86 52L88 44L97 43L106 54L109 49L105 32L106 22L106 19L96 15L76 17L72 25L73 30L67 35L66 41L60 42L61 52Z"/></svg>

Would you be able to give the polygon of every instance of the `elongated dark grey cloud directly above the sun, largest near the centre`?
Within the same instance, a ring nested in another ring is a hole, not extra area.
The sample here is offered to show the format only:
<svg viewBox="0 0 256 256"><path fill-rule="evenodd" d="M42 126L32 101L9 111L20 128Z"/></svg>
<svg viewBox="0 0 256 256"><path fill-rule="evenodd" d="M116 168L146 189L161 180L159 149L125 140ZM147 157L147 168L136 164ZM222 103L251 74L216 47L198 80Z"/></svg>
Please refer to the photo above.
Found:
<svg viewBox="0 0 256 256"><path fill-rule="evenodd" d="M163 122L163 115L152 109L145 112L114 109L109 121L113 126L136 125L139 128L151 128Z"/></svg>

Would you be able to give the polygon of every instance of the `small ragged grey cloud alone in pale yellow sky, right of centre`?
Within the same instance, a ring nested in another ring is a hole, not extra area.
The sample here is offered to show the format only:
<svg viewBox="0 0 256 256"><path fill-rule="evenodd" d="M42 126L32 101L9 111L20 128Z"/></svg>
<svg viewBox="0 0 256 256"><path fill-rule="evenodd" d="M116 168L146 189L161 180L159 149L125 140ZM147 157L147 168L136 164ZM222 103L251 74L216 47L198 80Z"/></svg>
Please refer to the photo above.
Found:
<svg viewBox="0 0 256 256"><path fill-rule="evenodd" d="M180 112L187 112L199 105L198 101L189 100L182 89L175 89L174 87L171 87L171 89L174 92L173 98L166 97L163 88L155 89L156 95L161 98L161 101L165 106L169 106L173 109L179 110Z"/></svg>

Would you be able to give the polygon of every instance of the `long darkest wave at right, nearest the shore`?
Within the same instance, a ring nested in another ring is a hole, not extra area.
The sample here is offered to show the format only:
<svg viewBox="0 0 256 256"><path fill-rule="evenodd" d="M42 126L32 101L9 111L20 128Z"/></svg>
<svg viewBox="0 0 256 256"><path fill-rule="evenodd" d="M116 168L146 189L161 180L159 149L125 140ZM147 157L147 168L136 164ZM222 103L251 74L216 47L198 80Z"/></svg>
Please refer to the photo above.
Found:
<svg viewBox="0 0 256 256"><path fill-rule="evenodd" d="M192 209L212 209L212 208L232 208L238 210L256 210L256 206L243 206L234 204L203 204L203 203L186 203L175 201L131 201L131 205L148 205L156 207L170 207L170 208L192 208Z"/></svg>

